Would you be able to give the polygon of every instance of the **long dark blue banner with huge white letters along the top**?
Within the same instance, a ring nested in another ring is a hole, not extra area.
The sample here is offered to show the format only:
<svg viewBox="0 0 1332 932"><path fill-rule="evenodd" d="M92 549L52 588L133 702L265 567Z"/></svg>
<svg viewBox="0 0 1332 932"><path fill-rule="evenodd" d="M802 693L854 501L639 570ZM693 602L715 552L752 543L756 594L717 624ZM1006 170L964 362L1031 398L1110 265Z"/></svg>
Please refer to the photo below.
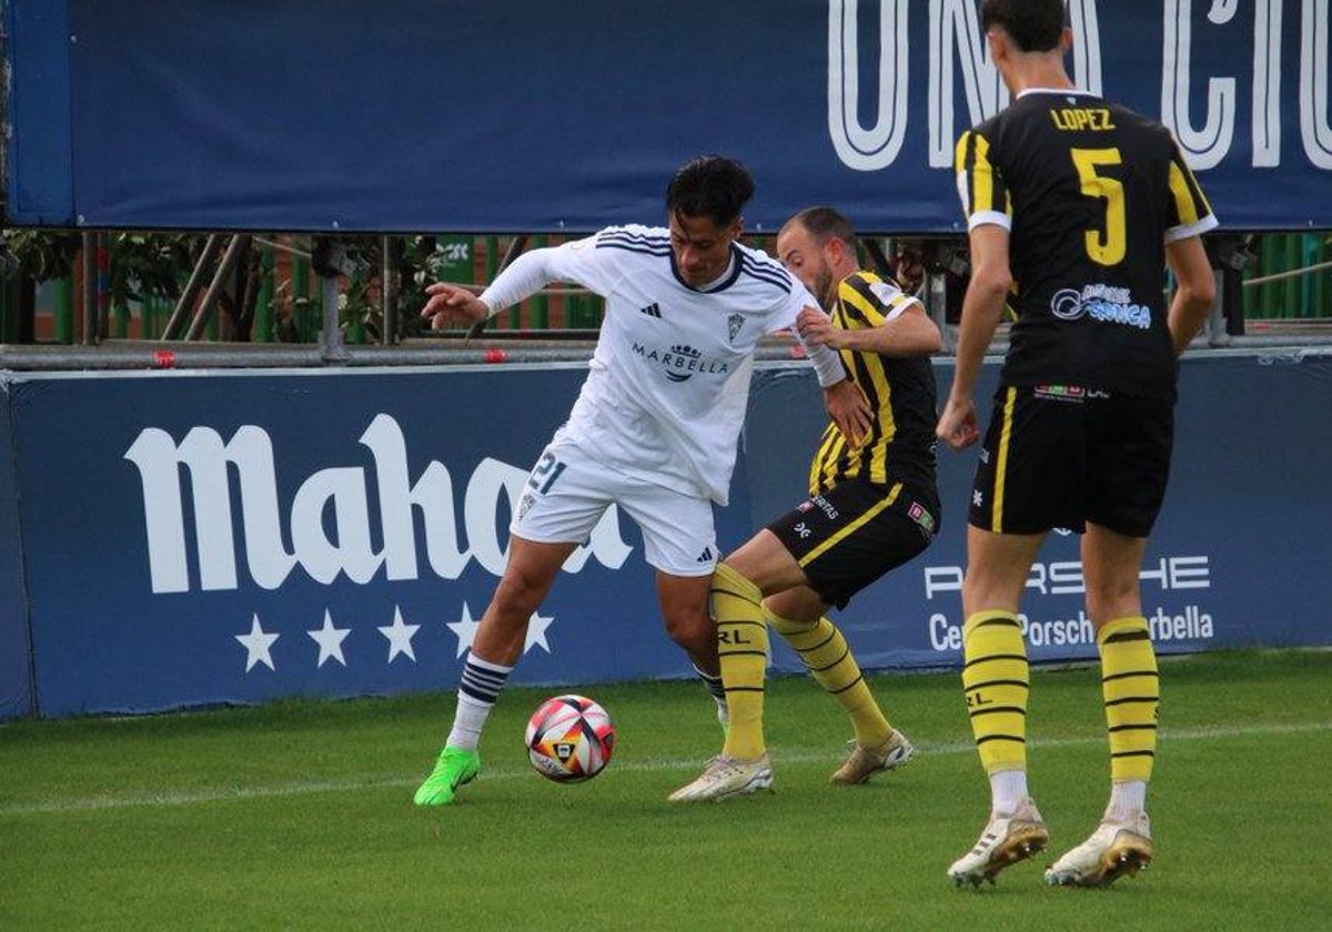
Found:
<svg viewBox="0 0 1332 932"><path fill-rule="evenodd" d="M1007 104L975 0L8 7L17 224L590 230L725 152L751 230L956 233L954 141ZM1328 7L1072 0L1070 69L1169 125L1231 229L1325 229Z"/></svg>

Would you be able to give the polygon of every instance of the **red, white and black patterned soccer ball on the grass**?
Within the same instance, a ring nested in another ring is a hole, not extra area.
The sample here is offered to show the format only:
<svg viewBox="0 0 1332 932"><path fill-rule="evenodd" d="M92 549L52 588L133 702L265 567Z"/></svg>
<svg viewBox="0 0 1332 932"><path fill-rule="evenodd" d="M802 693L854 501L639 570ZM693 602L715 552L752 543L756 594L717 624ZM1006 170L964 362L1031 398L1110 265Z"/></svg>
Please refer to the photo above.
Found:
<svg viewBox="0 0 1332 932"><path fill-rule="evenodd" d="M615 750L615 726L606 710L575 695L546 699L527 719L527 756L555 783L597 776Z"/></svg>

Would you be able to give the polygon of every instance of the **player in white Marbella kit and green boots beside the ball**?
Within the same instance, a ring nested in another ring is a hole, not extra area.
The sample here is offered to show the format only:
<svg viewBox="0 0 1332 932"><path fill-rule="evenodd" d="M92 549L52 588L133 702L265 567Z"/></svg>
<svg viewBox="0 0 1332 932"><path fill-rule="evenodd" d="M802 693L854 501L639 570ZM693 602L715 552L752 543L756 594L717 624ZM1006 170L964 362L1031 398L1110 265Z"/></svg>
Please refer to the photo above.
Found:
<svg viewBox="0 0 1332 932"><path fill-rule="evenodd" d="M422 316L493 317L553 281L606 298L578 401L533 467L510 526L509 561L472 642L453 728L417 806L446 806L481 770L485 720L522 654L527 620L559 567L611 505L643 533L666 631L721 695L707 611L717 562L713 502L726 505L759 337L818 302L775 260L741 245L746 169L721 156L682 166L667 228L611 226L519 256L480 296L432 285ZM810 346L829 413L848 434L868 405L836 353Z"/></svg>

